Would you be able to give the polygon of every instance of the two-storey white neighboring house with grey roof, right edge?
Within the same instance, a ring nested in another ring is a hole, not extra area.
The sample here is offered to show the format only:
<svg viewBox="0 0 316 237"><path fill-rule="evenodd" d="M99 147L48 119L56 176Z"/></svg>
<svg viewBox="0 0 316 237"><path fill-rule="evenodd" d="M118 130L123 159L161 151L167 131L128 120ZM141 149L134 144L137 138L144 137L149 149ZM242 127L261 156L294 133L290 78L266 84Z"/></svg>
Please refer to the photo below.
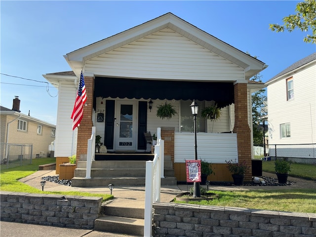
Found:
<svg viewBox="0 0 316 237"><path fill-rule="evenodd" d="M316 158L316 52L281 71L265 85L270 155L275 155L271 148L277 144L283 148L282 154L277 152L280 156Z"/></svg>

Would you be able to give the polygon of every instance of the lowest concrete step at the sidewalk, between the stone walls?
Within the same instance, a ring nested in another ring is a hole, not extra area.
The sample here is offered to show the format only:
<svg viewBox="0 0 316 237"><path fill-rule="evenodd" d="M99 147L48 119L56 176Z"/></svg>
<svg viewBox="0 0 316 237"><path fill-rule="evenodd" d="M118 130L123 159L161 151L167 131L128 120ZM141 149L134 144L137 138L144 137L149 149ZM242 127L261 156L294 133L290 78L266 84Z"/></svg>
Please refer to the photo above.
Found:
<svg viewBox="0 0 316 237"><path fill-rule="evenodd" d="M106 215L94 221L94 230L144 236L144 219Z"/></svg>

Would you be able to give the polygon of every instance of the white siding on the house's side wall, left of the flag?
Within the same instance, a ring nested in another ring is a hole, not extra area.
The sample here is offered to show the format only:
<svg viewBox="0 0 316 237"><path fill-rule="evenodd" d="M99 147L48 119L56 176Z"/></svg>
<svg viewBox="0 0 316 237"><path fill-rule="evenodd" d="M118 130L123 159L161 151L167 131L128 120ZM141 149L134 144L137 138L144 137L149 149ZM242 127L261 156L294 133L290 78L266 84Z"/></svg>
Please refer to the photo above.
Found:
<svg viewBox="0 0 316 237"><path fill-rule="evenodd" d="M55 157L68 157L77 151L77 129L73 132L73 120L70 118L76 92L74 84L59 84Z"/></svg>

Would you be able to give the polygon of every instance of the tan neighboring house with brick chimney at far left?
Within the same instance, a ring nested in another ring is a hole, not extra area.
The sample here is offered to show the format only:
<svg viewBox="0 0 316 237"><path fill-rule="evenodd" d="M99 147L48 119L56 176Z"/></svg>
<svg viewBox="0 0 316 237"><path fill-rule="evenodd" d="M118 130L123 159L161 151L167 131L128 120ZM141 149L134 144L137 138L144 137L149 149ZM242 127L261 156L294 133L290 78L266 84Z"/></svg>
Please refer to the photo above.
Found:
<svg viewBox="0 0 316 237"><path fill-rule="evenodd" d="M32 158L50 155L48 146L55 140L56 126L21 113L18 96L13 99L12 109L1 106L0 124L1 163L8 158L9 161L17 159L21 150L26 152L23 158L31 158L31 152ZM29 145L33 145L32 148Z"/></svg>

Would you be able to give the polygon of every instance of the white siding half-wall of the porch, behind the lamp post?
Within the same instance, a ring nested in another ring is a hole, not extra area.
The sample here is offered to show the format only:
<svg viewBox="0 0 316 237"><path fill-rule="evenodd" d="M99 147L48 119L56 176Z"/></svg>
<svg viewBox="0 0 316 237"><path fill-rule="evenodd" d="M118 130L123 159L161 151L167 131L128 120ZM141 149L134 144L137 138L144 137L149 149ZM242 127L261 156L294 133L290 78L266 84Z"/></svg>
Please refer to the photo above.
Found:
<svg viewBox="0 0 316 237"><path fill-rule="evenodd" d="M195 159L194 133L175 133L174 162L185 163ZM197 134L197 159L223 164L238 159L237 134Z"/></svg>

